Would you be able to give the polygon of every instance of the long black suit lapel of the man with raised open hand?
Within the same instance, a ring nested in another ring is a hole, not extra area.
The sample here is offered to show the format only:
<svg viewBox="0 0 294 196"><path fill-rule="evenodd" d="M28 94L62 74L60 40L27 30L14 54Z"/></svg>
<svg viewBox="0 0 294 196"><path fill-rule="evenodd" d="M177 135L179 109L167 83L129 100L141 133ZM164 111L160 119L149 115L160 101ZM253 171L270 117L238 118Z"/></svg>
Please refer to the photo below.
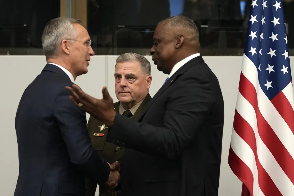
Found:
<svg viewBox="0 0 294 196"><path fill-rule="evenodd" d="M197 64L197 63L202 63L204 62L202 56L197 56L193 59L191 59L190 61L188 61L187 63L185 63L183 66L181 66L178 71L176 71L171 78L168 79L168 81L166 81L166 83L163 84L163 86L161 86L161 88L157 91L157 93L153 96L153 98L148 102L148 104L146 105L144 111L141 113L141 115L138 118L138 121L141 120L141 118L145 115L145 113L147 112L147 110L150 108L150 106L154 103L154 101L169 87L171 86L171 84L173 82L176 81L176 79L178 77L180 77L181 75L183 75L183 73L185 73L189 68L191 68L193 65Z"/></svg>

